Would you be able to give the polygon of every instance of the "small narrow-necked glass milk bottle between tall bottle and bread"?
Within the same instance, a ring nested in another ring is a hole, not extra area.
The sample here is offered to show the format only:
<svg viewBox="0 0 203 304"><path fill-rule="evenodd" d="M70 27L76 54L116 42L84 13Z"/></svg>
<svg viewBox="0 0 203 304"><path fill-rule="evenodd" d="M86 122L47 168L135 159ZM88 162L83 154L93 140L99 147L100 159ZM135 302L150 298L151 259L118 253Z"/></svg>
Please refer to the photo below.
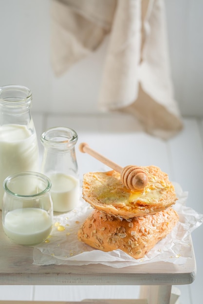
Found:
<svg viewBox="0 0 203 304"><path fill-rule="evenodd" d="M56 212L74 209L79 201L79 174L75 155L77 134L55 127L41 135L44 146L41 172L52 182L51 196Z"/></svg>

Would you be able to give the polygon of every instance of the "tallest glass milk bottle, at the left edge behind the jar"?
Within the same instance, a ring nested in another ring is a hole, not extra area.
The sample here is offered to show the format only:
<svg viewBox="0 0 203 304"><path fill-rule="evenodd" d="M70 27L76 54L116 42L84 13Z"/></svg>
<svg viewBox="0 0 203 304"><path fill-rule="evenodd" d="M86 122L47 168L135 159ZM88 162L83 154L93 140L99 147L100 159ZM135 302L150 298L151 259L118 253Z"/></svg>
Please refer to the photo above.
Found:
<svg viewBox="0 0 203 304"><path fill-rule="evenodd" d="M4 179L14 173L38 170L39 152L31 103L32 92L27 87L0 87L0 209Z"/></svg>

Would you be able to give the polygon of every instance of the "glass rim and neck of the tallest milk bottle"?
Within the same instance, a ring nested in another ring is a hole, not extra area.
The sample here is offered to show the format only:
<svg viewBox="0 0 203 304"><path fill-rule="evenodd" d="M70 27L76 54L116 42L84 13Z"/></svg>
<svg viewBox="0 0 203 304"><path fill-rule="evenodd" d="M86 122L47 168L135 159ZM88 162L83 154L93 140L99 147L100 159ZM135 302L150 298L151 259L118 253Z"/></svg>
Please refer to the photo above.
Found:
<svg viewBox="0 0 203 304"><path fill-rule="evenodd" d="M32 92L23 85L4 85L0 87L0 104L7 107L29 105L32 101Z"/></svg>

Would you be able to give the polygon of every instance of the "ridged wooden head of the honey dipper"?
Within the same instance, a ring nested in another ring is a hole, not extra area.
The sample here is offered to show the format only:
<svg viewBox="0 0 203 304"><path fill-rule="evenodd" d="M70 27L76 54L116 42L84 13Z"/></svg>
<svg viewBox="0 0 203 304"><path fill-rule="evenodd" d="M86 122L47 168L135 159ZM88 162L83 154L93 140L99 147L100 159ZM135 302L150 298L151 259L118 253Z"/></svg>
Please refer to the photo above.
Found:
<svg viewBox="0 0 203 304"><path fill-rule="evenodd" d="M131 190L143 190L148 184L148 175L142 168L129 165L121 171L121 182Z"/></svg>

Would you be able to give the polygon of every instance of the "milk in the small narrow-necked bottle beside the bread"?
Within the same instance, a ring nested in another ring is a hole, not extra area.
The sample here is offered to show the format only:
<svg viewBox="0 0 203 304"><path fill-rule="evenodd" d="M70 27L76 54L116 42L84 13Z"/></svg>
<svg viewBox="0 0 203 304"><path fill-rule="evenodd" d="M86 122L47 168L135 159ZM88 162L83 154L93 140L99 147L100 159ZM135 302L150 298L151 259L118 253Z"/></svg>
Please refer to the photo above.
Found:
<svg viewBox="0 0 203 304"><path fill-rule="evenodd" d="M63 173L52 174L49 178L52 182L54 211L66 212L74 209L79 200L79 180Z"/></svg>

